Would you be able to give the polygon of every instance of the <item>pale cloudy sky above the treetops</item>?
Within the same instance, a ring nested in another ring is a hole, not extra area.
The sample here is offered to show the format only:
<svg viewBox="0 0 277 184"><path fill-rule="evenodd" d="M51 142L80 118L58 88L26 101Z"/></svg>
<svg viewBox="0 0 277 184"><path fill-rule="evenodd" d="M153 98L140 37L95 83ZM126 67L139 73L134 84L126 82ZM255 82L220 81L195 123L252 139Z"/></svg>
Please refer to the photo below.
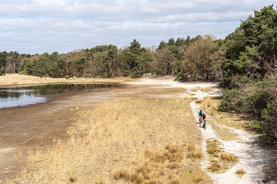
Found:
<svg viewBox="0 0 277 184"><path fill-rule="evenodd" d="M67 53L113 44L142 47L170 38L225 36L254 10L277 0L80 1L0 0L0 52Z"/></svg>

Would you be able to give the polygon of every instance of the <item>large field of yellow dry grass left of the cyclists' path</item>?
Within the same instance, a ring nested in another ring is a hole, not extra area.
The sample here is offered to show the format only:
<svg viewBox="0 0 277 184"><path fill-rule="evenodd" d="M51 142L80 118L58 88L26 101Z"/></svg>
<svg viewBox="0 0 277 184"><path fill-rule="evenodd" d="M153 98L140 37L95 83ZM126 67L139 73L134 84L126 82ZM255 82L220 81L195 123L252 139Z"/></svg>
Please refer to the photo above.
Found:
<svg viewBox="0 0 277 184"><path fill-rule="evenodd" d="M185 169L200 168L184 155L202 157L195 144L201 137L191 123L191 99L164 98L161 94L179 89L163 89L157 89L155 97L145 95L144 89L115 91L113 99L72 108L78 117L64 130L67 138L57 135L53 146L30 150L30 180L66 183L76 176L75 183L91 183L100 176L98 183L105 182L103 178L108 183L179 183Z"/></svg>

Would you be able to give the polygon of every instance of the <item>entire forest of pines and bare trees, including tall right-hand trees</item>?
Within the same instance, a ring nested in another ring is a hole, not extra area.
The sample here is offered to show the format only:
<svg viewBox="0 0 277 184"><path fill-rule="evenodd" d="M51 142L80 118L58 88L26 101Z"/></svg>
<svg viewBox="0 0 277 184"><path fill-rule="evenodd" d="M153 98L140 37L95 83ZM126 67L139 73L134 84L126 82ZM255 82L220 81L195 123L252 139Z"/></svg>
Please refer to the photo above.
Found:
<svg viewBox="0 0 277 184"><path fill-rule="evenodd" d="M277 10L277 9L276 9ZM220 80L218 110L246 114L249 125L277 141L277 11L254 11L225 39L213 35L162 40L141 47L139 41L117 48L100 45L66 54L0 52L0 75L19 73L53 78L117 76L144 73L174 75L175 80Z"/></svg>

